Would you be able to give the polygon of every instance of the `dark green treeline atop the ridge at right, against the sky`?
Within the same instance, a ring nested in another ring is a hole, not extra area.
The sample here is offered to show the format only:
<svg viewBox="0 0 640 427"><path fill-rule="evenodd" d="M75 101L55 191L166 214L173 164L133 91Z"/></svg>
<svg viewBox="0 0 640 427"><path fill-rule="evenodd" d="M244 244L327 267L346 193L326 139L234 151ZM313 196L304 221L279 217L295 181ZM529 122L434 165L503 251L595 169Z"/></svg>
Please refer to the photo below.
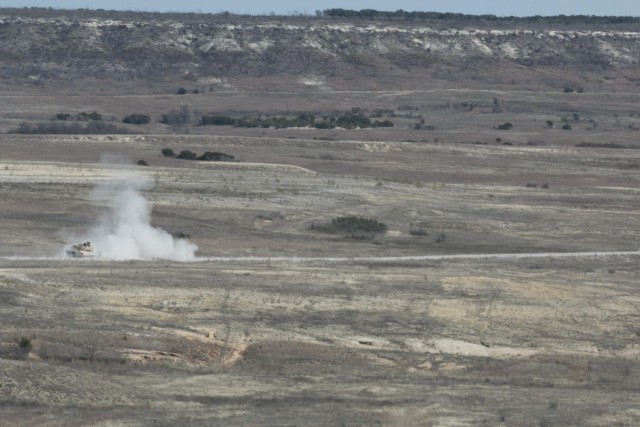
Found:
<svg viewBox="0 0 640 427"><path fill-rule="evenodd" d="M366 20L405 20L405 21L456 21L456 22L520 22L530 24L633 24L640 18L633 16L594 16L594 15L556 15L556 16L496 16L466 15L464 13L417 12L396 10L395 12L375 9L325 9L316 12L328 18L366 19Z"/></svg>

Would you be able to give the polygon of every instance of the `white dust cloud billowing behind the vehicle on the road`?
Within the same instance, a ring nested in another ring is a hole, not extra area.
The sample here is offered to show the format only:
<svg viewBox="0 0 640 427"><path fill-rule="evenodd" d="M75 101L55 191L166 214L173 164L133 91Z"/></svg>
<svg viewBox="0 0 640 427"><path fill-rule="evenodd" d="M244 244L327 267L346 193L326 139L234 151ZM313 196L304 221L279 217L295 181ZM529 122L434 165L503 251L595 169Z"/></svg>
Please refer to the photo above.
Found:
<svg viewBox="0 0 640 427"><path fill-rule="evenodd" d="M90 241L102 259L195 260L195 244L151 225L152 206L140 192L152 187L150 181L130 172L124 174L123 179L100 184L93 191L93 200L105 211L75 243Z"/></svg>

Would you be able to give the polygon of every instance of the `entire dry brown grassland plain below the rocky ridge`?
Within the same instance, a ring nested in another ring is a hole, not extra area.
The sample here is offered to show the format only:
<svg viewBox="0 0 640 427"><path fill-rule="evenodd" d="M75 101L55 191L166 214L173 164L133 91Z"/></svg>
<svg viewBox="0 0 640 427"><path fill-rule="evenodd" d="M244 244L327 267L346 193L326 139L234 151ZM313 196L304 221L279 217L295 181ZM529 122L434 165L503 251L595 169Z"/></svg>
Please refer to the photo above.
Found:
<svg viewBox="0 0 640 427"><path fill-rule="evenodd" d="M609 77L2 80L0 424L640 425L640 89ZM135 133L13 132L82 112ZM195 124L302 113L394 126Z"/></svg>

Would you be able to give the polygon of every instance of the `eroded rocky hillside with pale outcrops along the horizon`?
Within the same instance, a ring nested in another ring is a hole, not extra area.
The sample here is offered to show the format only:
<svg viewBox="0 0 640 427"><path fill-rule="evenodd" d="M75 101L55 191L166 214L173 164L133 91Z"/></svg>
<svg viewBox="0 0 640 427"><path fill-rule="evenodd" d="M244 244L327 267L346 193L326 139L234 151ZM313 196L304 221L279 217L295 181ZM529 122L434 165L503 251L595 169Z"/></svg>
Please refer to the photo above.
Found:
<svg viewBox="0 0 640 427"><path fill-rule="evenodd" d="M589 85L606 73L633 76L640 57L640 32L615 25L519 29L310 17L119 17L17 16L0 10L0 76L331 79L356 73L384 85L385 77L398 75L510 83L519 75L514 73L534 69L538 83L577 79ZM563 77L556 79L554 70L562 70ZM634 83L633 77L628 80Z"/></svg>

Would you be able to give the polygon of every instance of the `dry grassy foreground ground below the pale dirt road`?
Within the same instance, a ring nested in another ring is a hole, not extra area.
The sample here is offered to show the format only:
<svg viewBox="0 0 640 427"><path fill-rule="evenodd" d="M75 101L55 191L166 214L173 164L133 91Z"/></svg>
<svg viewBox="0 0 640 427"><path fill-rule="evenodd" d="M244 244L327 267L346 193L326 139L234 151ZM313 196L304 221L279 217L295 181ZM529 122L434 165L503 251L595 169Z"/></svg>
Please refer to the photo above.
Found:
<svg viewBox="0 0 640 427"><path fill-rule="evenodd" d="M12 422L640 421L635 256L0 263Z"/></svg>

